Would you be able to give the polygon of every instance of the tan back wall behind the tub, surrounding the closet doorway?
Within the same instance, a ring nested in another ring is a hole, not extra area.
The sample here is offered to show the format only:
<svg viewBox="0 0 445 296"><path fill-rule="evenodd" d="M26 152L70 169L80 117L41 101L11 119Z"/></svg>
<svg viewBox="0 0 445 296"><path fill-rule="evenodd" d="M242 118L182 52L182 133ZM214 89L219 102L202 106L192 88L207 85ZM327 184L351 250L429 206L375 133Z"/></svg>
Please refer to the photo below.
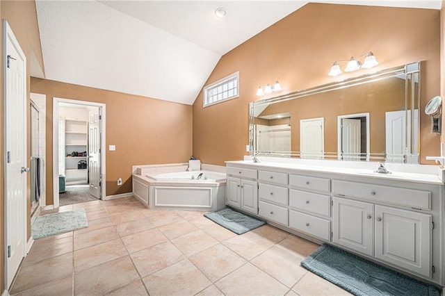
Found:
<svg viewBox="0 0 445 296"><path fill-rule="evenodd" d="M192 155L192 106L38 78L31 92L47 96L47 204L53 204L53 97L106 104L106 195L131 192L132 165L186 162Z"/></svg>

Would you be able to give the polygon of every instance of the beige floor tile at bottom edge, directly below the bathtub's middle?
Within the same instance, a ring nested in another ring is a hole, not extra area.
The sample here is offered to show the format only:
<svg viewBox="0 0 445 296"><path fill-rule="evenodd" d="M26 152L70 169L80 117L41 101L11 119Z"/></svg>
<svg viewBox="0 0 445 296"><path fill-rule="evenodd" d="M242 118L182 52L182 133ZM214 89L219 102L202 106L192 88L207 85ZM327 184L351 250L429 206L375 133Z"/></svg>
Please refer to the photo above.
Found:
<svg viewBox="0 0 445 296"><path fill-rule="evenodd" d="M143 278L149 295L195 295L211 285L187 259Z"/></svg>

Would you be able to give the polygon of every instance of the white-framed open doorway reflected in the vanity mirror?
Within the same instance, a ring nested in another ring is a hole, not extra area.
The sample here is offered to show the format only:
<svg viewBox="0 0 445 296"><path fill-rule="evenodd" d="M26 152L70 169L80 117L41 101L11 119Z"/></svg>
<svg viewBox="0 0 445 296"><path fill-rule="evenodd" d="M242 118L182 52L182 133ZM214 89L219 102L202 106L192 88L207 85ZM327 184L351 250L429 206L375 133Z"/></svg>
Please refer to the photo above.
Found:
<svg viewBox="0 0 445 296"><path fill-rule="evenodd" d="M369 161L369 113L337 117L338 159Z"/></svg>

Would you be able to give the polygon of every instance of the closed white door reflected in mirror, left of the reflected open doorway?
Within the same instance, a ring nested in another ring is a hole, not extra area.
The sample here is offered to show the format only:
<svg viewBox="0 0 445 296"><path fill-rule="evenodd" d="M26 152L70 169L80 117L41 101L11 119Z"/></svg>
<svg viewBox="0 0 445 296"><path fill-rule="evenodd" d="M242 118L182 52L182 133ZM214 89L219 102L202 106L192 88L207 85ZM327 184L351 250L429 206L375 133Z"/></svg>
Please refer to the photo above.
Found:
<svg viewBox="0 0 445 296"><path fill-rule="evenodd" d="M300 120L300 157L323 158L324 120Z"/></svg>

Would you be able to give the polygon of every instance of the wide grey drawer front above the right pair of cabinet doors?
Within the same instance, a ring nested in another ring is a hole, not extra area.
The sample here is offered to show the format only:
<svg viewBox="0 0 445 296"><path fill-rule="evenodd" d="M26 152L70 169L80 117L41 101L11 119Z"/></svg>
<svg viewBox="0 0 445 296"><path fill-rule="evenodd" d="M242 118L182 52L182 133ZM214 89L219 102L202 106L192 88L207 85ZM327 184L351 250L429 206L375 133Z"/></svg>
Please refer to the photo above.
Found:
<svg viewBox="0 0 445 296"><path fill-rule="evenodd" d="M431 208L430 191L333 180L332 192L336 195L369 199L411 208L427 210Z"/></svg>

